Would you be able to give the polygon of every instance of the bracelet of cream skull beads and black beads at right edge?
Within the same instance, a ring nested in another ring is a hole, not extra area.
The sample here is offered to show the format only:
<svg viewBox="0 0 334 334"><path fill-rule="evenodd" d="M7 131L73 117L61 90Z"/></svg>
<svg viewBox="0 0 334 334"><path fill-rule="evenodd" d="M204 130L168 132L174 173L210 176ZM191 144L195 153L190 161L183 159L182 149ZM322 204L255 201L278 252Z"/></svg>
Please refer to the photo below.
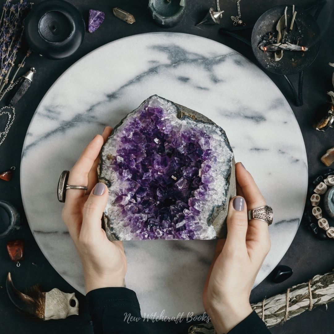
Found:
<svg viewBox="0 0 334 334"><path fill-rule="evenodd" d="M331 175L328 175L331 174ZM326 201L333 201L333 192L334 192L334 170L328 169L324 176L319 175L313 181L313 184L317 186L313 189L313 194L310 198L312 205L312 214L318 219L318 226L326 231L326 234L329 238L334 239L334 227L329 226L328 219L323 216L324 211L327 212L328 216L334 218L334 213L331 211L328 203ZM320 195L325 194L325 210L320 208ZM333 202L334 204L334 202ZM312 228L312 227L311 227Z"/></svg>

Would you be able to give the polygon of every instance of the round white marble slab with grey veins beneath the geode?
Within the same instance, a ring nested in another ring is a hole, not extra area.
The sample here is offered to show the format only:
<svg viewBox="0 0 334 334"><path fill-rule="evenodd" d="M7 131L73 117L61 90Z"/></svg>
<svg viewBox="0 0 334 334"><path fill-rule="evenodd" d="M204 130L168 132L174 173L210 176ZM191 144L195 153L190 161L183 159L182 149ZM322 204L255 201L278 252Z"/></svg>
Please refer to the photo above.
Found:
<svg viewBox="0 0 334 334"><path fill-rule="evenodd" d="M302 216L308 174L303 137L289 104L263 71L223 44L188 34L149 33L106 44L77 61L46 93L29 126L21 162L23 204L38 245L84 294L81 264L60 216L59 175L96 133L119 123L153 94L221 126L235 160L254 175L273 207L272 248L259 284L287 251ZM136 291L142 316L201 314L215 243L125 241L126 285Z"/></svg>

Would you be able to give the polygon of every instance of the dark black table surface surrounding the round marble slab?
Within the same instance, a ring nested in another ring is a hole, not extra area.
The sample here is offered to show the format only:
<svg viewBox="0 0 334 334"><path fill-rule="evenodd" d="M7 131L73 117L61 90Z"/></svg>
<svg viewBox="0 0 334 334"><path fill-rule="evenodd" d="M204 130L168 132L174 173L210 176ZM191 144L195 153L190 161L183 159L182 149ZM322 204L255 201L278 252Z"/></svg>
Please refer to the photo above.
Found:
<svg viewBox="0 0 334 334"><path fill-rule="evenodd" d="M35 3L38 2L40 1L35 1ZM78 292L76 292L76 296L79 299L79 316L71 316L65 320L35 322L15 311L5 291L5 279L8 271L12 272L15 277L15 284L20 290L40 283L44 291L49 291L55 287L65 292L74 291L52 268L38 248L25 219L22 206L19 178L21 150L27 128L39 102L53 82L70 65L88 52L125 36L152 31L164 31L163 28L156 26L151 21L147 9L147 0L97 0L90 3L89 1L70 0L69 2L79 9L86 22L90 8L104 11L106 19L95 33L86 34L83 44L71 57L63 60L48 60L37 54L32 54L27 59L25 68L21 70L22 74L30 66L34 66L37 69L37 73L28 93L18 103L16 107L16 119L9 131L8 137L0 147L0 170L4 171L11 166L16 166L14 176L10 182L0 180L0 200L6 200L14 204L23 217L23 228L21 230L11 237L0 239L0 332L6 334L93 333L85 297ZM247 24L254 24L257 18L268 8L286 3L286 1L282 0L243 0L240 2L242 19ZM289 4L292 4L292 2L289 2ZM296 0L294 4L302 8L308 8L314 2L310 0ZM214 5L215 1L213 0L188 0L185 18L178 26L168 29L168 31L185 32L213 39L230 46L257 63L251 48L232 37L220 35L218 32L219 26L206 25L195 27L195 23L202 19L207 9ZM235 1L221 1L220 6L225 11L222 25L226 27L232 26L229 17L236 15ZM136 23L129 25L120 20L113 19L113 7L121 7L134 14ZM320 162L320 157L328 148L334 146L334 129L330 129L326 133L321 133L315 131L311 126L314 111L320 104L329 100L326 92L333 89L331 85L333 68L328 65L329 62L334 62L333 8L334 2L328 0L318 18L322 34L322 45L318 57L304 73L304 105L302 107L295 107L291 92L282 76L266 72L283 92L296 115L305 141L310 177L325 170L325 166ZM311 10L311 13L314 13L314 10ZM241 32L240 35L249 38L250 31ZM298 83L298 75L291 76L291 79L295 85ZM35 173L38 173L38 170ZM289 190L287 189L287 191ZM47 214L45 214L45 219L47 219ZM22 261L20 268L17 268L10 261L6 251L7 241L14 238L21 238L25 242L25 259ZM291 278L280 284L272 283L268 277L252 291L251 301L260 301L264 297L270 297L283 292L295 284L306 282L316 274L324 274L332 270L334 268L333 247L333 240L320 241L301 224L294 241L280 262L293 268L294 274ZM273 327L271 332L273 334L330 334L334 332L333 319L334 305L329 305L327 310L322 306L290 319L283 326ZM149 323L149 329L150 333L185 334L189 325L185 321L179 324L158 321Z"/></svg>

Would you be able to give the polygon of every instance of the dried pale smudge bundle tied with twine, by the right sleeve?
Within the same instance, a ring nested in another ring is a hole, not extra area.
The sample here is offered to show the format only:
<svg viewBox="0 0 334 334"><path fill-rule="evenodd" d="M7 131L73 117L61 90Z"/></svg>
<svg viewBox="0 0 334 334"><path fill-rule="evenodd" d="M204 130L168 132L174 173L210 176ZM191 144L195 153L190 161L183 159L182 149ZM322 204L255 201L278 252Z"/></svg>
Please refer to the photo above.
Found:
<svg viewBox="0 0 334 334"><path fill-rule="evenodd" d="M334 269L325 275L316 275L310 281L289 288L262 302L252 304L253 310L267 327L284 323L304 311L334 302ZM214 334L212 323L191 326L188 334Z"/></svg>

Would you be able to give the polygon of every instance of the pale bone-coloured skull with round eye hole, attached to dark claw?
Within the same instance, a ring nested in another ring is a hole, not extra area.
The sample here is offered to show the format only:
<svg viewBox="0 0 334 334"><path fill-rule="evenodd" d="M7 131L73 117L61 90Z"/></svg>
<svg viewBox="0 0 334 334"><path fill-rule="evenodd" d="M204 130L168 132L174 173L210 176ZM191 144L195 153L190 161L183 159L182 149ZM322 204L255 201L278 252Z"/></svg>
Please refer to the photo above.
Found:
<svg viewBox="0 0 334 334"><path fill-rule="evenodd" d="M75 306L71 306L71 300ZM73 302L74 303L74 302ZM45 293L44 320L65 319L70 315L79 314L79 302L73 293L65 293L56 288Z"/></svg>

